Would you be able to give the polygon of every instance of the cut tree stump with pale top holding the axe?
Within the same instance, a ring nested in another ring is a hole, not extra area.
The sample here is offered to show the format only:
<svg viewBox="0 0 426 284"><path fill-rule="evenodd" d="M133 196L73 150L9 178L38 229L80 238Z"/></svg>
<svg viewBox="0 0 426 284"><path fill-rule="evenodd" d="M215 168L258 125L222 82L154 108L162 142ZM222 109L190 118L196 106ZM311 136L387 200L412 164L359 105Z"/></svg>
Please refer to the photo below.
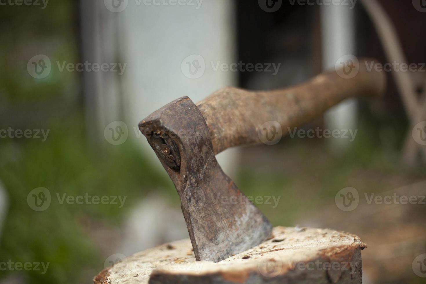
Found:
<svg viewBox="0 0 426 284"><path fill-rule="evenodd" d="M95 284L362 283L356 235L276 227L259 246L218 263L196 261L190 239L136 253L101 271Z"/></svg>

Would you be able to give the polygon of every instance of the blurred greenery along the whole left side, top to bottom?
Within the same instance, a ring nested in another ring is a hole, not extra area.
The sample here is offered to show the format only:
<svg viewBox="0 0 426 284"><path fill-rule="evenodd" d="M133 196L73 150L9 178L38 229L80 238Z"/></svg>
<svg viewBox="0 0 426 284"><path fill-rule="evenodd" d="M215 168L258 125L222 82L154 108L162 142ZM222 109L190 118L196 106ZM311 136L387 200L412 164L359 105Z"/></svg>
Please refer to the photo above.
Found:
<svg viewBox="0 0 426 284"><path fill-rule="evenodd" d="M104 269L106 258L90 231L97 227L107 232L119 230L126 211L150 190L174 191L166 174L152 169L129 141L121 147L105 141L107 145L102 146L87 142L78 72L52 68L42 80L28 74L26 64L37 54L48 55L52 65L56 60L78 62L76 4L57 0L49 1L46 9L26 5L0 9L0 116L6 120L0 121L0 129L50 130L45 142L0 139L0 181L9 198L0 261L50 262L45 275L0 271L0 280L24 274L28 283L90 282ZM33 211L26 202L28 193L37 187L46 187L51 193L52 204L46 211ZM123 208L61 205L57 193L127 195L127 199Z"/></svg>

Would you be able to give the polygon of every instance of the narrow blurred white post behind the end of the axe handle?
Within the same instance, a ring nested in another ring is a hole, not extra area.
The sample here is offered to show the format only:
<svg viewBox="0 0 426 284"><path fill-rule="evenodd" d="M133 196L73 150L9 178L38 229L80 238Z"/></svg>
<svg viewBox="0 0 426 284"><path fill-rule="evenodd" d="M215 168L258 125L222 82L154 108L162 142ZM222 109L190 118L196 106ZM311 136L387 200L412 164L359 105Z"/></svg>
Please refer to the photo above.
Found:
<svg viewBox="0 0 426 284"><path fill-rule="evenodd" d="M343 5L321 6L322 66L334 70L340 57L355 55L355 9ZM326 129L357 129L357 100L349 99L325 114ZM349 146L348 139L328 139L336 152Z"/></svg>

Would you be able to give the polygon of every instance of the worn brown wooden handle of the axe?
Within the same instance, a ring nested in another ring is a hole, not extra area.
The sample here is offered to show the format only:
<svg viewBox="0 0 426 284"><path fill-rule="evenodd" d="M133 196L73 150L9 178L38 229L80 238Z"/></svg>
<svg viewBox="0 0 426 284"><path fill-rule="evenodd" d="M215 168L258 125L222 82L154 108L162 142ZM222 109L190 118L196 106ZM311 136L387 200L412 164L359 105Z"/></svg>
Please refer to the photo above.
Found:
<svg viewBox="0 0 426 284"><path fill-rule="evenodd" d="M385 72L368 71L371 62L361 58L359 72L349 79L333 71L288 89L250 92L227 87L209 95L197 106L209 128L214 153L261 143L258 129L268 121L278 122L285 135L288 127L302 126L346 98L383 95Z"/></svg>

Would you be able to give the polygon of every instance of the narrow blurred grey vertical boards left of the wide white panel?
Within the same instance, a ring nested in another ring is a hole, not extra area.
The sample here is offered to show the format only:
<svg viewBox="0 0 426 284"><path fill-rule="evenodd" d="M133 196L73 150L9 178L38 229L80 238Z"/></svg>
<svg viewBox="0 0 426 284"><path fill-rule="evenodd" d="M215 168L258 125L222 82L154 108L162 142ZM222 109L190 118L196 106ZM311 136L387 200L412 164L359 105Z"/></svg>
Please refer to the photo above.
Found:
<svg viewBox="0 0 426 284"><path fill-rule="evenodd" d="M80 0L82 63L120 62L117 57L117 13L107 9L107 1ZM118 67L114 69L118 70ZM86 129L95 145L105 142L105 126L121 119L118 73L82 72Z"/></svg>

